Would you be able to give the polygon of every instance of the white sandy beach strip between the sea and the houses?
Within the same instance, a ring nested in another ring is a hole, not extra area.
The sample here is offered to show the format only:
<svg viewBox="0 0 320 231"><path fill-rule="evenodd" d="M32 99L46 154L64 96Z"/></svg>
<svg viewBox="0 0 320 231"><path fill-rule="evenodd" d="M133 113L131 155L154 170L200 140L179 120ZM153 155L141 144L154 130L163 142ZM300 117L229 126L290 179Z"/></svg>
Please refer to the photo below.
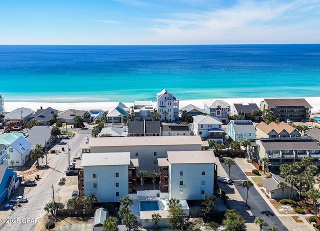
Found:
<svg viewBox="0 0 320 231"><path fill-rule="evenodd" d="M301 97L296 97L301 98ZM320 97L303 97L305 100L312 106L311 113L320 113ZM211 100L220 99L229 103L232 107L233 103L256 103L258 106L264 98L210 98ZM201 109L204 108L204 101L209 99L191 99L191 100L179 100L179 108L182 108L188 104L193 104ZM133 102L123 102L126 106L130 107L133 105ZM19 107L30 108L34 111L42 108L52 107L57 110L65 110L69 108L79 109L79 110L89 110L89 109L102 109L108 110L116 102L65 102L65 103L53 103L53 102L7 102L4 100L4 109L5 111L12 111ZM153 106L155 107L156 101L153 101ZM232 108L231 108L232 109Z"/></svg>

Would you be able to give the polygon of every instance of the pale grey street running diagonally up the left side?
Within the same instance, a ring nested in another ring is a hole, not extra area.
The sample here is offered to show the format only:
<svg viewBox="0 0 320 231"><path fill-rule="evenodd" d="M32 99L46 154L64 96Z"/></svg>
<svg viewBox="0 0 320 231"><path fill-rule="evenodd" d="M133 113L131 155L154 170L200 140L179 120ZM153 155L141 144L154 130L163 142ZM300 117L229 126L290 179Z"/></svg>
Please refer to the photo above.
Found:
<svg viewBox="0 0 320 231"><path fill-rule="evenodd" d="M69 143L70 159L79 153L79 145L84 143L85 137L91 134L91 129L68 129L76 132L74 138L69 140L62 140ZM61 145L61 144L56 144ZM40 172L40 178L36 181L37 185L30 188L24 195L27 196L28 202L21 204L20 207L11 211L7 222L5 222L0 230L3 231L31 231L35 226L37 220L46 212L43 207L47 202L52 200L52 185L54 194L57 195L59 191L58 181L68 165L68 152L57 154L48 154L49 168L43 169ZM20 186L19 186L20 187Z"/></svg>

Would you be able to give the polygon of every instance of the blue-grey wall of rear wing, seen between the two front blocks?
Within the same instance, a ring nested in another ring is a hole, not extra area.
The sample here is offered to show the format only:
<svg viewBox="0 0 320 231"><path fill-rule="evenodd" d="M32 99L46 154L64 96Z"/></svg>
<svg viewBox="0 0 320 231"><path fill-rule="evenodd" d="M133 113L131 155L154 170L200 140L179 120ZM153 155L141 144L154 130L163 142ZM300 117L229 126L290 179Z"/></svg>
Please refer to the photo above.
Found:
<svg viewBox="0 0 320 231"><path fill-rule="evenodd" d="M130 152L130 158L138 158L138 170L146 170L147 175L154 169L158 171L157 158L166 158L167 151L201 150L199 144L181 145L141 145L91 147L91 152ZM156 155L154 155L156 152ZM136 155L137 153L137 155Z"/></svg>

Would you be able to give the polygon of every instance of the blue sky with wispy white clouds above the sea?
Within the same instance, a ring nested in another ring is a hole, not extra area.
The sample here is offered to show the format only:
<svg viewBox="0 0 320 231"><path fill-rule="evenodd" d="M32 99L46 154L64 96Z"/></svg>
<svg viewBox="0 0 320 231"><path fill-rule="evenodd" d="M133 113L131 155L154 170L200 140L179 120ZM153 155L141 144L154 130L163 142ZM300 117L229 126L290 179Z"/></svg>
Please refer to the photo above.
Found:
<svg viewBox="0 0 320 231"><path fill-rule="evenodd" d="M319 0L2 0L0 44L320 43Z"/></svg>

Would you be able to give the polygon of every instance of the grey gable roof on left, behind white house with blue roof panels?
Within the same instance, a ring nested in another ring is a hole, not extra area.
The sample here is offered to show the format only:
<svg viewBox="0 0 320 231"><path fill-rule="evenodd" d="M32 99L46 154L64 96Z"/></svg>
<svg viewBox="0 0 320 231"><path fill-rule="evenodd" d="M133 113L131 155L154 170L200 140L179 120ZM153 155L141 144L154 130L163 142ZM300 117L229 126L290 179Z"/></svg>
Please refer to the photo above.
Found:
<svg viewBox="0 0 320 231"><path fill-rule="evenodd" d="M44 141L47 142L51 137L51 126L32 126L28 132L26 139L32 144L41 144L44 145Z"/></svg>

